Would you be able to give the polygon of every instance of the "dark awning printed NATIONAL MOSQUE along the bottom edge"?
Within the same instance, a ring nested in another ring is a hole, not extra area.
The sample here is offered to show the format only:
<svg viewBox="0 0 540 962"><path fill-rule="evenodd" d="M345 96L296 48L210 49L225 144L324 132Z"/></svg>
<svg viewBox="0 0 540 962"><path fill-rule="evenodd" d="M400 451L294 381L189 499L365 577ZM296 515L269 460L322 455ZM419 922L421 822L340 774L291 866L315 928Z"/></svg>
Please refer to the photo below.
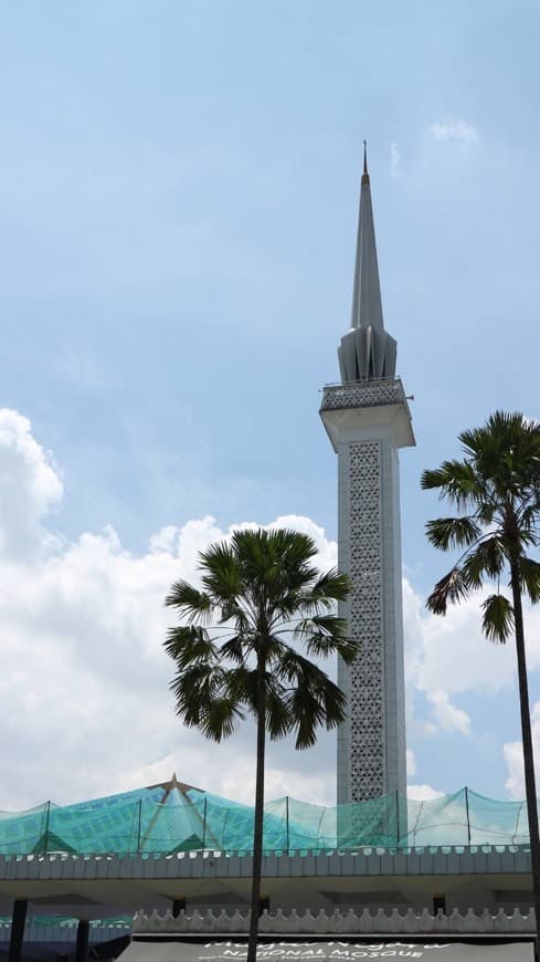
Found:
<svg viewBox="0 0 540 962"><path fill-rule="evenodd" d="M138 937L123 952L121 962L244 962L247 943L242 941L188 942L166 937ZM264 942L257 962L357 962L362 959L420 959L423 962L532 962L532 942L452 942L440 939L411 942L395 940L356 942Z"/></svg>

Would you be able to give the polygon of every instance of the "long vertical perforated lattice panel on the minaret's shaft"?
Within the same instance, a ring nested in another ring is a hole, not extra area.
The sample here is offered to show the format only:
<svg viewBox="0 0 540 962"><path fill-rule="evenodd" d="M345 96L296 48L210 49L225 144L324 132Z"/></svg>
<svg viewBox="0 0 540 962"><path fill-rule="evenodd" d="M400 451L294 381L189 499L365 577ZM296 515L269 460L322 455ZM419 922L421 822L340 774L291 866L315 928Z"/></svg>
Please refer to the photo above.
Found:
<svg viewBox="0 0 540 962"><path fill-rule="evenodd" d="M379 442L350 445L349 459L351 628L361 642L350 669L350 788L360 802L385 791Z"/></svg>

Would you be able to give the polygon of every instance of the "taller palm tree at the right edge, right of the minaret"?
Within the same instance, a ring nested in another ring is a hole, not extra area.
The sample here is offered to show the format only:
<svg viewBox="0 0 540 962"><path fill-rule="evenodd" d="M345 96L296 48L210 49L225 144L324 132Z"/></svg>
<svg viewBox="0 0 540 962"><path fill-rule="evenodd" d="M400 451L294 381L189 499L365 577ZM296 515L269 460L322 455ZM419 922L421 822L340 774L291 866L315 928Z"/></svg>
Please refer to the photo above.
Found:
<svg viewBox="0 0 540 962"><path fill-rule="evenodd" d="M495 642L515 637L538 959L540 839L522 597L532 604L540 599L540 564L529 555L540 543L540 422L496 411L481 428L463 431L459 441L463 460L444 461L422 475L422 488L437 489L460 512L426 525L435 547L462 552L435 585L427 607L445 615L448 602L459 602L491 583L494 592L481 605L483 631ZM500 590L501 578L508 578L510 597Z"/></svg>

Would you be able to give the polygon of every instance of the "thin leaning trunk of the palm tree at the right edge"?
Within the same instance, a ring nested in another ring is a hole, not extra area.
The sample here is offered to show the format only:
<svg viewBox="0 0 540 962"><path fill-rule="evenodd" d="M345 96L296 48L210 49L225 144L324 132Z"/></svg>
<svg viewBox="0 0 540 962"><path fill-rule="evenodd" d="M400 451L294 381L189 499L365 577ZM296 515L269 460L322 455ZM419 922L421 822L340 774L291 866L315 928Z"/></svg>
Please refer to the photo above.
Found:
<svg viewBox="0 0 540 962"><path fill-rule="evenodd" d="M513 617L516 626L516 653L518 659L519 707L521 711L521 738L523 742L525 793L527 798L527 815L529 819L529 836L531 847L532 896L537 926L534 942L534 959L540 960L540 835L538 830L537 785L534 778L534 755L532 752L531 718L529 709L529 687L527 682L527 661L525 655L523 610L521 605L521 587L519 578L519 562L510 564L511 589L513 600Z"/></svg>

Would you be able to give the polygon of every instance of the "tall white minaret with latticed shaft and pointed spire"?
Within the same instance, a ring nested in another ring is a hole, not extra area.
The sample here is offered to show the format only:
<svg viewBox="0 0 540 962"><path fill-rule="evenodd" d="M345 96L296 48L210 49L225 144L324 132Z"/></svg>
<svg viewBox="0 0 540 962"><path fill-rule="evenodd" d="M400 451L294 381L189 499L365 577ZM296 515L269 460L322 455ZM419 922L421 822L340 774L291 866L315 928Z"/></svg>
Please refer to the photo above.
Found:
<svg viewBox="0 0 540 962"><path fill-rule="evenodd" d="M370 179L360 190L351 327L338 349L341 384L320 415L338 454L338 566L352 582L340 614L361 649L338 666L348 718L338 732L338 804L405 795L400 448L415 443L396 344L384 331Z"/></svg>

